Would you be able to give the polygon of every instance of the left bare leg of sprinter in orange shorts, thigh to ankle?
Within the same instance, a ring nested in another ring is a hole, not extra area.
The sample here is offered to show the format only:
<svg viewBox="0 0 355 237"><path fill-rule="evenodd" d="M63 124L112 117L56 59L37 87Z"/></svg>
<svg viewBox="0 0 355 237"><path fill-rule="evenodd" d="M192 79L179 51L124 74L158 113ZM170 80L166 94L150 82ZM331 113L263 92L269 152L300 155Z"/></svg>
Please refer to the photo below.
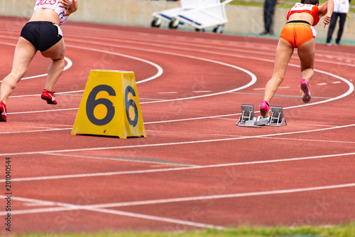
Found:
<svg viewBox="0 0 355 237"><path fill-rule="evenodd" d="M285 78L286 68L292 55L293 47L290 45L290 43L288 43L288 41L280 38L278 41L278 48L276 49L273 76L268 81L265 88L264 100L266 100L269 104L271 98L273 98L273 95L275 95L276 90L278 90L278 86L283 82L283 79Z"/></svg>

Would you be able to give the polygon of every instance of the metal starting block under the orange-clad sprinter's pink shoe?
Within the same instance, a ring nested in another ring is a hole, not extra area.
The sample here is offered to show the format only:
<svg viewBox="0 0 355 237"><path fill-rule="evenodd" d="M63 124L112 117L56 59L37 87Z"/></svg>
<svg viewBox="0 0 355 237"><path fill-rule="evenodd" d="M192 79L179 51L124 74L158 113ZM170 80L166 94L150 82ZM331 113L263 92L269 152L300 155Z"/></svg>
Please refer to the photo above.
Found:
<svg viewBox="0 0 355 237"><path fill-rule="evenodd" d="M285 126L286 120L283 117L283 107L270 106L270 117L254 117L253 105L241 105L241 117L236 125L241 127L262 127L266 126Z"/></svg>

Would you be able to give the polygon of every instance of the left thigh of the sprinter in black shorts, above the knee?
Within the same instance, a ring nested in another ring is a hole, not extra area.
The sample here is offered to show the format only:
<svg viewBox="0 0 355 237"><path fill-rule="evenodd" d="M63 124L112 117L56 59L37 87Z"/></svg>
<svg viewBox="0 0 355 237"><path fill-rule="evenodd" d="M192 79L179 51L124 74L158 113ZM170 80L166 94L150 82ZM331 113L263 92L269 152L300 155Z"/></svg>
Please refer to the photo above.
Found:
<svg viewBox="0 0 355 237"><path fill-rule="evenodd" d="M22 75L25 74L28 70L28 66L31 63L31 60L35 56L35 53L37 53L37 50L32 43L23 37L18 38L13 56L12 72L16 72Z"/></svg>

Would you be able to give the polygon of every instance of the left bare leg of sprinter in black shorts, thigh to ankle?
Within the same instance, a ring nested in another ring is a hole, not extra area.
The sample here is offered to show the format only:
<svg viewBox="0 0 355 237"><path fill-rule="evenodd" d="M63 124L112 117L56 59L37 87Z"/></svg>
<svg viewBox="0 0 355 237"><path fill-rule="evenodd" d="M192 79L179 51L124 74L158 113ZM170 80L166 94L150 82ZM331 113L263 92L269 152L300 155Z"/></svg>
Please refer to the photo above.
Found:
<svg viewBox="0 0 355 237"><path fill-rule="evenodd" d="M6 100L16 88L17 83L28 70L31 60L35 56L37 50L25 38L20 37L16 45L13 56L12 70L9 75L4 78L0 88L0 100L6 104Z"/></svg>

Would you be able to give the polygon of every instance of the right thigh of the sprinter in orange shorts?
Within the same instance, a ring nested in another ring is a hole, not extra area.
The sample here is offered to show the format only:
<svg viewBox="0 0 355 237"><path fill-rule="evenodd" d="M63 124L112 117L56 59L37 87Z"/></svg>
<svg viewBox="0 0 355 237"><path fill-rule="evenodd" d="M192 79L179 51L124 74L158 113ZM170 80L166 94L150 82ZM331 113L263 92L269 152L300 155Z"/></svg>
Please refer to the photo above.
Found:
<svg viewBox="0 0 355 237"><path fill-rule="evenodd" d="M315 39L312 38L298 47L298 58L300 58L301 71L306 68L314 68L315 64Z"/></svg>

